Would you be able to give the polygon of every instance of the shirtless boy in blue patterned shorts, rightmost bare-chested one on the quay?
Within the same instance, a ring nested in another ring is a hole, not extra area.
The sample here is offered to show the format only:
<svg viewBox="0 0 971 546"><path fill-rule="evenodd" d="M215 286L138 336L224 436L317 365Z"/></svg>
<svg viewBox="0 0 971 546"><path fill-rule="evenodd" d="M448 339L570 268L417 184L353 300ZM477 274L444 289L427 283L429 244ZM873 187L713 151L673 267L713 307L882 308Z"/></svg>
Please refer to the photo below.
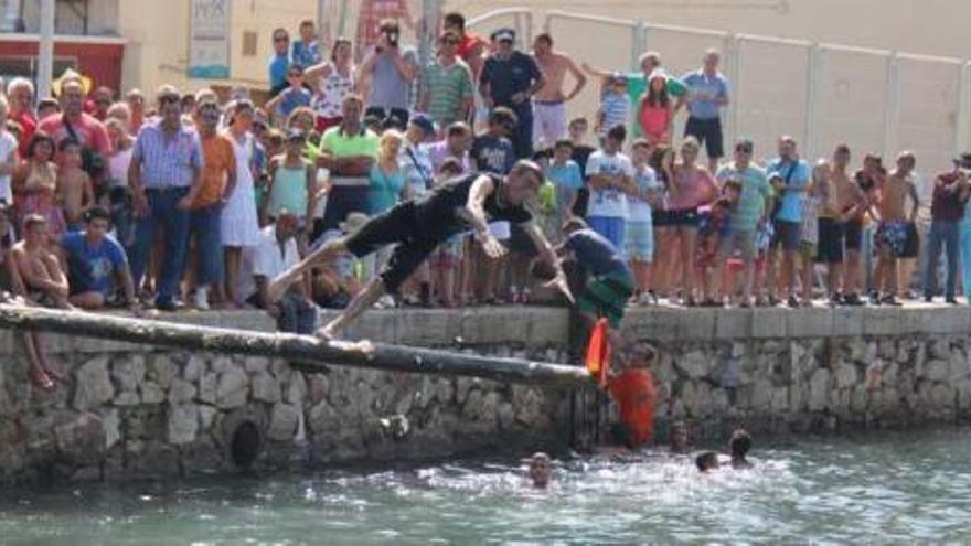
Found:
<svg viewBox="0 0 971 546"><path fill-rule="evenodd" d="M917 186L910 178L917 161L911 152L901 152L894 170L884 184L879 196L879 226L876 231L876 247L879 253L879 276L877 289L884 289L881 303L899 306L897 293L897 260L906 251L909 225L917 220L920 206ZM910 196L910 215L904 212L904 203Z"/></svg>

